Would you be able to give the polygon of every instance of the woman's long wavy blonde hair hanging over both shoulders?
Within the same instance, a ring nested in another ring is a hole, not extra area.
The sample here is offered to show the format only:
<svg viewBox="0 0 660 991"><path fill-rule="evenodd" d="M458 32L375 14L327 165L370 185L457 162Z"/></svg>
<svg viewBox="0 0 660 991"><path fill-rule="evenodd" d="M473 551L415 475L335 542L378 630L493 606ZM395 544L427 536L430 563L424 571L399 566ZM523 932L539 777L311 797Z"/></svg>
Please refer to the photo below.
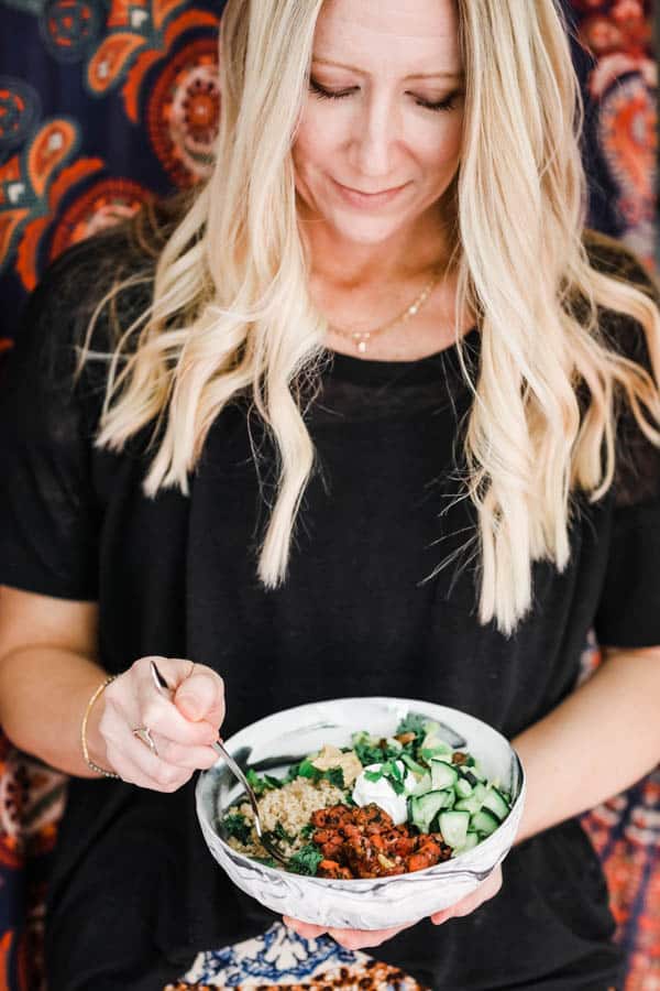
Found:
<svg viewBox="0 0 660 991"><path fill-rule="evenodd" d="M479 314L482 338L464 493L479 519L480 620L509 634L531 602L532 563L569 560L572 492L597 500L613 482L617 390L660 444L656 383L612 348L598 307L639 322L656 380L660 314L648 288L590 262L582 106L554 0L457 2L466 77L457 340L464 312ZM187 492L211 424L248 392L279 459L258 560L271 588L286 576L314 467L297 383L314 378L327 328L309 297L292 162L321 7L229 0L215 167L160 253L152 305L118 342L97 439L120 450L153 423L145 492Z"/></svg>

